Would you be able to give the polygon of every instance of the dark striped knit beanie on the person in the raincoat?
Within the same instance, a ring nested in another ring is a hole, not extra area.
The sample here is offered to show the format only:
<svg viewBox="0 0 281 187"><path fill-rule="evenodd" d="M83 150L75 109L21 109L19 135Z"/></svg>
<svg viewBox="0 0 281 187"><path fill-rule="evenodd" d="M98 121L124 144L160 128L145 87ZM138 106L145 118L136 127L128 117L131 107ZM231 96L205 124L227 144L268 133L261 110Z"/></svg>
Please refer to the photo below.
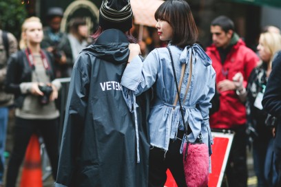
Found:
<svg viewBox="0 0 281 187"><path fill-rule="evenodd" d="M114 28L125 32L132 28L132 16L129 0L103 0L99 10L99 25L103 30Z"/></svg>

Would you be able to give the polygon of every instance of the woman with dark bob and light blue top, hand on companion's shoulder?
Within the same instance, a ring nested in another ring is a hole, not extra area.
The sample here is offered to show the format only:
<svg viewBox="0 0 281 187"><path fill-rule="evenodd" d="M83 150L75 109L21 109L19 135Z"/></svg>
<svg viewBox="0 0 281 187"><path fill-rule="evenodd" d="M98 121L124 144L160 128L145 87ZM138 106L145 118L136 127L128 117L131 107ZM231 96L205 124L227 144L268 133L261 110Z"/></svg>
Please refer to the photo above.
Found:
<svg viewBox="0 0 281 187"><path fill-rule="evenodd" d="M165 1L156 10L155 19L160 40L167 41L168 46L153 50L142 62L138 56L140 46L130 44L129 62L121 85L126 102L134 111L135 97L150 87L154 90L148 119L149 186L164 186L168 168L178 186L186 186L183 144L187 137L189 142L200 139L207 144L211 155L209 108L215 93L216 74L211 59L196 43L198 30L186 1ZM173 62L179 87L181 84L179 99ZM184 126L178 100L183 105L188 126Z"/></svg>

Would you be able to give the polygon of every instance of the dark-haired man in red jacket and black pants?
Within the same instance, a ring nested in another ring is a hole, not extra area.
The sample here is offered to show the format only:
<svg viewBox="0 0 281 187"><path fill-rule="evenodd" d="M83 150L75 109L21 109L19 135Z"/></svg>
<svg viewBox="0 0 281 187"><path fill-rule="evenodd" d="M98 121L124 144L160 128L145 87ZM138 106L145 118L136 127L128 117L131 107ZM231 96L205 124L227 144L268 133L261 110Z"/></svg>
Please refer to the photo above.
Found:
<svg viewBox="0 0 281 187"><path fill-rule="evenodd" d="M213 44L207 47L207 54L216 71L220 109L210 116L210 125L212 129L235 132L226 170L227 180L229 186L247 186L246 109L241 96L246 93L244 87L259 58L234 32L233 21L228 17L214 19L211 34ZM239 72L244 78L243 83L234 77Z"/></svg>

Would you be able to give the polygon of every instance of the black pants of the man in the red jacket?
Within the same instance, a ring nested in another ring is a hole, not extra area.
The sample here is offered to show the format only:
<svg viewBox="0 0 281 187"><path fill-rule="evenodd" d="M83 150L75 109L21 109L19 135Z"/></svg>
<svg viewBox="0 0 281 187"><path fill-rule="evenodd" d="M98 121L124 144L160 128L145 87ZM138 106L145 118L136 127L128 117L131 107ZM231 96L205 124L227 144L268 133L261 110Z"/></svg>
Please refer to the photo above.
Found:
<svg viewBox="0 0 281 187"><path fill-rule="evenodd" d="M235 135L226 168L227 181L229 187L246 187L248 179L246 126L238 125L231 130Z"/></svg>

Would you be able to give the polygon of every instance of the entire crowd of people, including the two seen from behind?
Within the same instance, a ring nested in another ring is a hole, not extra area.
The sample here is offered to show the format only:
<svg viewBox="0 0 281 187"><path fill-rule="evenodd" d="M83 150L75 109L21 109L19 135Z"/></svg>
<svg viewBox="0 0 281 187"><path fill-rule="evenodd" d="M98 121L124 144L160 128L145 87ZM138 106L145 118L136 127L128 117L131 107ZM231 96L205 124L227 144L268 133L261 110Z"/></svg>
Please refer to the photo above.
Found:
<svg viewBox="0 0 281 187"><path fill-rule="evenodd" d="M80 17L61 32L57 7L46 28L38 17L25 19L19 43L0 30L0 186L16 186L34 133L43 137L56 187L164 186L168 169L187 186L184 144L199 141L211 157L211 130L225 129L234 136L222 186L247 186L247 147L258 186L281 186L279 28L263 28L253 51L219 16L204 48L187 1L167 0L155 12L158 39L150 47L136 39L133 14L128 0L103 0L92 36ZM57 78L66 77L60 113ZM11 108L14 142L3 179Z"/></svg>

